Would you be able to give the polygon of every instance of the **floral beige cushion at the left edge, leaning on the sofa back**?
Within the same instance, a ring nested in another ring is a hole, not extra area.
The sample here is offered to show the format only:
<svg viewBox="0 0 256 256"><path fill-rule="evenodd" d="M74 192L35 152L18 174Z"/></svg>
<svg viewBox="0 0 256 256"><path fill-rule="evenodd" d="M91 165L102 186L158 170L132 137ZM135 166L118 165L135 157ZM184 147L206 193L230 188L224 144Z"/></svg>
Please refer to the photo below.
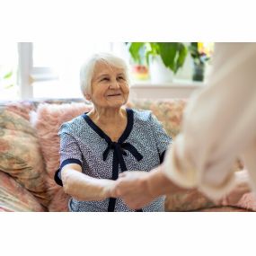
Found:
<svg viewBox="0 0 256 256"><path fill-rule="evenodd" d="M10 174L43 206L49 204L47 174L35 130L13 111L0 109L0 171Z"/></svg>

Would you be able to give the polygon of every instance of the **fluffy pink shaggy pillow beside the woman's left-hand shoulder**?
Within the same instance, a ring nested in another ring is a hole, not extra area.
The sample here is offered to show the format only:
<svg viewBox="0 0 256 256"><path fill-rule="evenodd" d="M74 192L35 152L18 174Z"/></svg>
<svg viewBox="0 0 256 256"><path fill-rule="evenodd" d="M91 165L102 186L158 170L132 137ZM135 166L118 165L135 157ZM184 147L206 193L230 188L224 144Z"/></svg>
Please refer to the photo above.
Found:
<svg viewBox="0 0 256 256"><path fill-rule="evenodd" d="M46 163L46 171L50 180L48 187L53 199L49 211L68 211L67 201L70 198L54 181L54 174L59 167L58 129L62 123L74 119L84 112L92 110L92 105L85 103L39 105L37 112L31 115L31 122L36 128L42 154Z"/></svg>

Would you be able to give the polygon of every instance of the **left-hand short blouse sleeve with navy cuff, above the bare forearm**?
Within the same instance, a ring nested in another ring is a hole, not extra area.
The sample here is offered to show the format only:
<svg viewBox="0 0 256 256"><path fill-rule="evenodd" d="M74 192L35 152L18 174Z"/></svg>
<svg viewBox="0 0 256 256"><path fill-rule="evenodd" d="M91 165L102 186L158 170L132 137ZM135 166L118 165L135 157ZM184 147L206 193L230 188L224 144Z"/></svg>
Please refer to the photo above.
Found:
<svg viewBox="0 0 256 256"><path fill-rule="evenodd" d="M61 181L61 169L69 163L76 163L82 167L82 153L78 146L75 137L72 136L68 130L68 125L63 124L59 129L58 135L60 137L60 147L59 147L59 156L60 156L60 165L59 169L55 173L55 181L58 185L62 186Z"/></svg>

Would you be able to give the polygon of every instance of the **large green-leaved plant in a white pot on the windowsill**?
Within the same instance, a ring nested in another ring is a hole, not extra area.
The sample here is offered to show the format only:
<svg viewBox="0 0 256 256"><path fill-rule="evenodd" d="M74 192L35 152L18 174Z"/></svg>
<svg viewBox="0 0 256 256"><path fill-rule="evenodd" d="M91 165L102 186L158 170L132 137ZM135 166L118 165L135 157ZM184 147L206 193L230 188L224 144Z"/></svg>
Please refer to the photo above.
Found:
<svg viewBox="0 0 256 256"><path fill-rule="evenodd" d="M152 82L165 83L183 66L188 49L181 42L130 42L128 51L137 68L149 66Z"/></svg>

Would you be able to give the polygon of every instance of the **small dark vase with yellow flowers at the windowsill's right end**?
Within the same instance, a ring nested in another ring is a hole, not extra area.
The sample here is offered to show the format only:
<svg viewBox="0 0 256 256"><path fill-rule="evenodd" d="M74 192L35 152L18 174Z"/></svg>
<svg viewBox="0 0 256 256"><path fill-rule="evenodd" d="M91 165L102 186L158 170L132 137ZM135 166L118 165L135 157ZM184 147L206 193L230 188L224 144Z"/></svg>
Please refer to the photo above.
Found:
<svg viewBox="0 0 256 256"><path fill-rule="evenodd" d="M204 81L206 64L213 52L213 44L205 47L202 42L191 42L189 46L190 56L193 59L193 81Z"/></svg>

